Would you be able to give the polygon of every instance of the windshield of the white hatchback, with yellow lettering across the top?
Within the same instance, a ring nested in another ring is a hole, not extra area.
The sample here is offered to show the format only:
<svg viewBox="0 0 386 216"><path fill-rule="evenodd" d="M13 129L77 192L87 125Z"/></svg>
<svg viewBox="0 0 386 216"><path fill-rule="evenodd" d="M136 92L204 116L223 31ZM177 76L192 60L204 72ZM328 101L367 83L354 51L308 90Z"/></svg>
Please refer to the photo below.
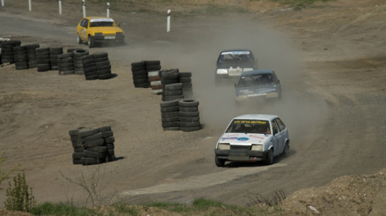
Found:
<svg viewBox="0 0 386 216"><path fill-rule="evenodd" d="M267 120L235 119L226 132L271 134Z"/></svg>

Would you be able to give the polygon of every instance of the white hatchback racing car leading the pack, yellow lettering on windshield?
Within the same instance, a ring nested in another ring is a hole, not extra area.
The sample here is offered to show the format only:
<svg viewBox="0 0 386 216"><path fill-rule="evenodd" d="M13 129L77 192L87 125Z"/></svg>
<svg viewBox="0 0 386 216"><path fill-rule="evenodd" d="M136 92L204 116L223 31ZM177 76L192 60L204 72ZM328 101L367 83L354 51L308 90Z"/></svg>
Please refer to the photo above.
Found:
<svg viewBox="0 0 386 216"><path fill-rule="evenodd" d="M278 116L249 114L230 121L214 153L216 166L224 166L226 161L273 164L274 157L286 156L288 150L288 130Z"/></svg>

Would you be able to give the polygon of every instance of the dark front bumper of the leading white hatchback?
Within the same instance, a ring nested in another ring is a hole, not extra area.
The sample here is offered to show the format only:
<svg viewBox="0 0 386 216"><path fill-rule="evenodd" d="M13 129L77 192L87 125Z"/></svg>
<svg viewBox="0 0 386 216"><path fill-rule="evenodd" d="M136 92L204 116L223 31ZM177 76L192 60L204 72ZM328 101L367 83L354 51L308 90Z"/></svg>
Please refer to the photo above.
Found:
<svg viewBox="0 0 386 216"><path fill-rule="evenodd" d="M227 161L262 161L267 156L267 152L252 150L235 151L214 149L214 153L218 159L225 159Z"/></svg>

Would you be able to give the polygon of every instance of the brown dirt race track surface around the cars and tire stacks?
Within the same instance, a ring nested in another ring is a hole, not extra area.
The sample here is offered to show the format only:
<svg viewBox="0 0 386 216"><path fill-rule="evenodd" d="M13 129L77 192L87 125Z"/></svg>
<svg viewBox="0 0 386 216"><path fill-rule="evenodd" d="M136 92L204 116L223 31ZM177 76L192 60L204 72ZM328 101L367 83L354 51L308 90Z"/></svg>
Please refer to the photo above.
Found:
<svg viewBox="0 0 386 216"><path fill-rule="evenodd" d="M0 8L1 21L6 21L0 23L0 37L40 47L76 47L72 31L81 16L78 11L62 19L42 11L7 10ZM47 16L52 23L49 30ZM39 202L84 201L84 191L60 174L74 179L84 174L90 181L96 170L97 166L72 164L68 130L81 126L111 125L114 131L118 160L100 166L103 203L190 203L204 197L247 205L255 195L272 195L280 189L291 194L339 176L375 174L385 167L385 2L337 1L302 11L180 15L172 18L170 33L165 33L164 16L117 17L127 23L127 45L90 50L109 53L118 75L114 79L86 81L55 71L0 67L0 147L8 157L4 165L6 169L22 165ZM214 86L218 53L237 47L255 52L260 68L275 70L283 84L283 100L236 108L233 86ZM162 130L160 96L150 89L135 89L131 79L131 62L152 59L159 59L163 69L192 72L202 130ZM228 121L243 113L281 116L290 132L291 156L273 166L216 167L216 140ZM1 193L0 203L4 200Z"/></svg>

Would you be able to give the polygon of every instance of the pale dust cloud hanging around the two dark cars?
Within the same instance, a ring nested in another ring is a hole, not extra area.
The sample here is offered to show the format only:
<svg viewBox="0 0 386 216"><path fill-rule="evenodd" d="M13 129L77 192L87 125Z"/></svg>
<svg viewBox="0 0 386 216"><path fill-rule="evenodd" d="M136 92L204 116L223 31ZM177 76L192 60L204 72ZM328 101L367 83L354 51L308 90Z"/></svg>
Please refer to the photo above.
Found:
<svg viewBox="0 0 386 216"><path fill-rule="evenodd" d="M183 40L178 38L179 25L191 25L188 33L181 34L189 35ZM192 23L177 22L172 29L174 31L168 35L160 32L157 36L149 36L154 40L148 42L148 47L131 45L125 55L135 53L133 57L137 60L160 59L163 69L192 72L193 97L200 103L201 123L213 130L215 137L221 135L232 118L250 113L279 115L288 127L291 142L293 138L299 140L305 134L312 134L311 130L321 125L327 110L324 101L310 93L303 78L300 52L279 30L240 15L214 17L211 21L197 18ZM214 84L216 59L221 50L240 48L252 50L259 69L274 69L282 85L280 101L236 106L234 82Z"/></svg>

